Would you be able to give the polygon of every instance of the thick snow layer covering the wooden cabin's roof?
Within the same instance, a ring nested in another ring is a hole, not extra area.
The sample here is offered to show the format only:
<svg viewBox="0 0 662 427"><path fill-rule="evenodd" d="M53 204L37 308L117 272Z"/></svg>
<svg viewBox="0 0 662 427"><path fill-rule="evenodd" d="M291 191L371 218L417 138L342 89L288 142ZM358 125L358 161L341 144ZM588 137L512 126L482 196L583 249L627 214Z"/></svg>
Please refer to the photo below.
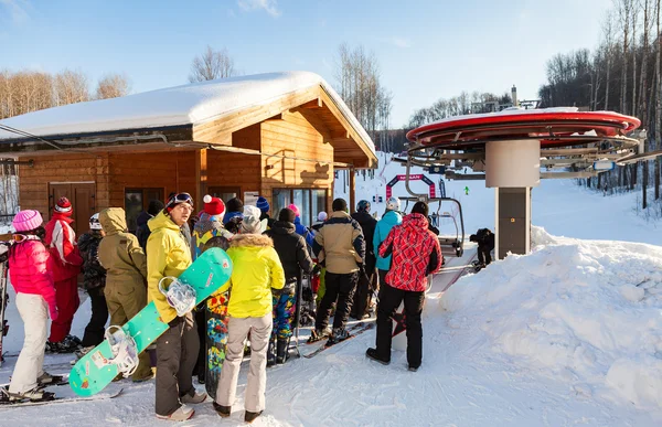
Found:
<svg viewBox="0 0 662 427"><path fill-rule="evenodd" d="M8 118L0 124L40 137L196 125L245 108L267 105L318 85L329 94L374 153L372 139L340 95L321 76L310 72L266 73L193 83L49 108ZM0 130L0 140L17 137L20 138Z"/></svg>

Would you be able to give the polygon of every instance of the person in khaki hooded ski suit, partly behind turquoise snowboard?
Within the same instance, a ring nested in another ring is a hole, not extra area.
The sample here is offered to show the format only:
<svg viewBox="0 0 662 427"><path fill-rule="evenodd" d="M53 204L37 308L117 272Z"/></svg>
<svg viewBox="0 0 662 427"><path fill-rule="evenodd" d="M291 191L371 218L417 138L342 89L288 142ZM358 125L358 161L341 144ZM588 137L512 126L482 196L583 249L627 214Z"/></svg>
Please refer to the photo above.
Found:
<svg viewBox="0 0 662 427"><path fill-rule="evenodd" d="M104 295L110 324L121 327L147 306L147 258L138 237L127 231L124 209L109 207L99 212L99 223L105 233L98 248L99 264L106 269ZM151 380L149 353L142 352L138 361L131 380Z"/></svg>

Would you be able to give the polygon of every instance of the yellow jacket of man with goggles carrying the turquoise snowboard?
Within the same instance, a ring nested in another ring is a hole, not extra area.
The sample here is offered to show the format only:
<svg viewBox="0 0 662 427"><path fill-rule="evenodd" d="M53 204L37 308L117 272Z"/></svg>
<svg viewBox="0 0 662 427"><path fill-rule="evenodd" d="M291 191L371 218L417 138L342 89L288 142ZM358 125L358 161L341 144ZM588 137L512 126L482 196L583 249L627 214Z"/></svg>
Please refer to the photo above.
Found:
<svg viewBox="0 0 662 427"><path fill-rule="evenodd" d="M159 280L166 276L179 277L191 265L191 247L181 228L160 212L149 220L151 231L147 239L147 299L154 301L161 320L166 323L177 317L166 296L159 291Z"/></svg>

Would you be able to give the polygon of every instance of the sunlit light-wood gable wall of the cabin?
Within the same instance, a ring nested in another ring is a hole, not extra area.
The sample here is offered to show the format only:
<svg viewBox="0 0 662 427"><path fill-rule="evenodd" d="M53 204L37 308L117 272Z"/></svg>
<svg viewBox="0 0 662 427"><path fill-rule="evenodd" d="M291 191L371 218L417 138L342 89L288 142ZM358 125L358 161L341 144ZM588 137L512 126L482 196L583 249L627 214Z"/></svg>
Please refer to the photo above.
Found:
<svg viewBox="0 0 662 427"><path fill-rule="evenodd" d="M327 210L333 198L333 147L324 143L322 135L300 114L284 113L279 120L261 122L261 151L297 157L293 160L261 158L260 195L273 205L273 189L327 189ZM329 163L322 163L329 162ZM273 216L277 213L271 213Z"/></svg>

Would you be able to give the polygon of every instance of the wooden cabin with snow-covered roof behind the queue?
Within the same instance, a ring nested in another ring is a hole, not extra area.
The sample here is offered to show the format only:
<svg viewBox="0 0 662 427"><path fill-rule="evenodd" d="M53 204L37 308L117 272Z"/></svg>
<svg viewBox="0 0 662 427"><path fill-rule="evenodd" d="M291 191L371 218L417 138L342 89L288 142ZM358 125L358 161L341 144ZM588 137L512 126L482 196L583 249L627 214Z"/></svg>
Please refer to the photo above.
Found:
<svg viewBox="0 0 662 427"><path fill-rule="evenodd" d="M183 191L196 211L205 194L247 203L259 194L273 216L296 203L310 224L331 207L334 171L376 167L365 130L312 73L212 81L51 108L0 125L0 157L18 159L21 209L46 218L66 195L77 233L108 206L124 207L134 229L150 200Z"/></svg>

